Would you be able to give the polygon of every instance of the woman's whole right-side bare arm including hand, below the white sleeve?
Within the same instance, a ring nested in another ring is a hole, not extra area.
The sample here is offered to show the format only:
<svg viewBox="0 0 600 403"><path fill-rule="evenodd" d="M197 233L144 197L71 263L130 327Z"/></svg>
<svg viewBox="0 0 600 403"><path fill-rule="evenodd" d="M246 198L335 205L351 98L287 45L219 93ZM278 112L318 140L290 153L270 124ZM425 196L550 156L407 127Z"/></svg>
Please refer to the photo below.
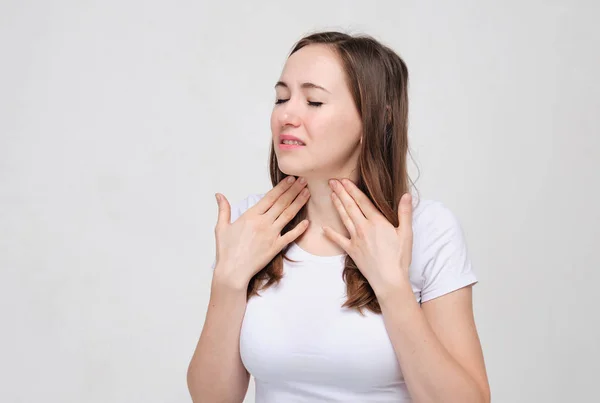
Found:
<svg viewBox="0 0 600 403"><path fill-rule="evenodd" d="M351 236L329 228L367 278L381 306L411 396L418 402L487 403L490 390L472 307L472 287L419 305L409 281L412 204L405 194L396 228L351 181L332 181L332 200Z"/></svg>

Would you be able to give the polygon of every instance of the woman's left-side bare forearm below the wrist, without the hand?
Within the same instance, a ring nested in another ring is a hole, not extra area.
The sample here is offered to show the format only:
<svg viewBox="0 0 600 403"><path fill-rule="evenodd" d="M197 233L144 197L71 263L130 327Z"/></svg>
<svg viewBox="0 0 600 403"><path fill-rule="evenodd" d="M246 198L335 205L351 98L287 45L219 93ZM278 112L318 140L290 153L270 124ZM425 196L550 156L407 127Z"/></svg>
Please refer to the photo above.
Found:
<svg viewBox="0 0 600 403"><path fill-rule="evenodd" d="M246 311L246 290L213 279L208 311L188 367L194 402L242 402L249 374L242 364L239 336Z"/></svg>

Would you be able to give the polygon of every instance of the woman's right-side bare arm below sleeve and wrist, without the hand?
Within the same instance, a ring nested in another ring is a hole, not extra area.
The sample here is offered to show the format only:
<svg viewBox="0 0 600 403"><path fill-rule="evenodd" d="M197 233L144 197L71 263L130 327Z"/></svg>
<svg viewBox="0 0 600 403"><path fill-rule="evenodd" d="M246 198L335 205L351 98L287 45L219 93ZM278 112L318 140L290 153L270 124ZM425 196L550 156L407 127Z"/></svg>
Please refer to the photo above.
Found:
<svg viewBox="0 0 600 403"><path fill-rule="evenodd" d="M490 391L472 314L472 287L419 308L412 290L382 298L381 310L410 394L417 402L488 403Z"/></svg>

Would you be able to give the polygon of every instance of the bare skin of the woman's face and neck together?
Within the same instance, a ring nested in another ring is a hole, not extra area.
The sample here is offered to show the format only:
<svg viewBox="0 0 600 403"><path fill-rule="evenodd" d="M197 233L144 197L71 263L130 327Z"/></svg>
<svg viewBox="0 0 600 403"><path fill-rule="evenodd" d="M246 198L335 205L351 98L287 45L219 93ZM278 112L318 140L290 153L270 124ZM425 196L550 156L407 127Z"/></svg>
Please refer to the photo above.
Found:
<svg viewBox="0 0 600 403"><path fill-rule="evenodd" d="M277 85L276 103L271 114L273 146L279 169L307 180L310 199L306 205L310 224L296 240L315 255L329 256L344 253L328 239L321 226L349 235L336 212L330 194L330 178L358 179L355 171L362 135L360 115L356 110L344 71L335 54L322 45L310 45L291 55ZM302 88L310 82L326 89ZM312 106L309 102L322 102ZM279 135L291 134L306 147L295 150L279 149Z"/></svg>

